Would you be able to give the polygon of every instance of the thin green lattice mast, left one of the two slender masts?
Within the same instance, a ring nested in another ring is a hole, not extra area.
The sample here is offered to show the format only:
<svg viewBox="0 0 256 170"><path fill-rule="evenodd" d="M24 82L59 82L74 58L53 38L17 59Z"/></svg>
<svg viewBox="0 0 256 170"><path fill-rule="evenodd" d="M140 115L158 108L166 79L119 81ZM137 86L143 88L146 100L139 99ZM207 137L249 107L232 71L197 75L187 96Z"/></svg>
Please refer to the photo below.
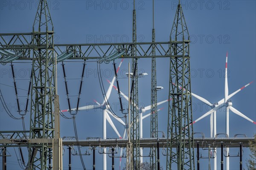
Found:
<svg viewBox="0 0 256 170"><path fill-rule="evenodd" d="M137 42L136 29L136 9L134 0L133 23L132 23L132 42ZM132 55L137 56L137 46L133 45ZM133 162L134 169L140 169L140 130L139 130L139 110L138 110L138 59L132 59L132 85L131 85L131 140L133 143Z"/></svg>

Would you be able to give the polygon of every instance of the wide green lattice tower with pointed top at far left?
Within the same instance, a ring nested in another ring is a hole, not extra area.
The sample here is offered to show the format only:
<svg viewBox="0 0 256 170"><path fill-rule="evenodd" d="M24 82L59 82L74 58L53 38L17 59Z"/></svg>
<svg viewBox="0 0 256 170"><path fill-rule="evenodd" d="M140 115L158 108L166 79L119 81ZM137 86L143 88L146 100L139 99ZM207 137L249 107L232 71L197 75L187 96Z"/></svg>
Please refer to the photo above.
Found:
<svg viewBox="0 0 256 170"><path fill-rule="evenodd" d="M33 25L33 62L30 138L54 138L55 59L53 24L46 0L40 0ZM29 145L28 169L47 170L52 159L52 146Z"/></svg>

